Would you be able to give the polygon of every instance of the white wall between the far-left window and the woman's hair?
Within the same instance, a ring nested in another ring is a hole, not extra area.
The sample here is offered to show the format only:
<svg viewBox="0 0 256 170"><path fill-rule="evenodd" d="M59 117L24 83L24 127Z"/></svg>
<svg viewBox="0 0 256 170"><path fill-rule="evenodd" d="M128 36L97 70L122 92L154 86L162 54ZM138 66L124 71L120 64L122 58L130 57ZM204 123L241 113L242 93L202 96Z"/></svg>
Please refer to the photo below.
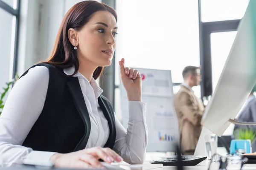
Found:
<svg viewBox="0 0 256 170"><path fill-rule="evenodd" d="M19 75L49 57L64 15L80 1L82 0L23 0L18 51Z"/></svg>

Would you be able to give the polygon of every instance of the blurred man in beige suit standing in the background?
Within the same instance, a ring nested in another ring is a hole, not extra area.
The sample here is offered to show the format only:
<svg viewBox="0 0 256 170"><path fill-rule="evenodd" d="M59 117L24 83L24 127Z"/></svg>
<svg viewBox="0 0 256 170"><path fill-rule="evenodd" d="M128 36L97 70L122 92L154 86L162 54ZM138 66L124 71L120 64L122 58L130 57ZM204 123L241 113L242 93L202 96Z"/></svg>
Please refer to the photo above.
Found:
<svg viewBox="0 0 256 170"><path fill-rule="evenodd" d="M195 96L193 86L201 82L200 67L187 66L182 72L184 82L174 96L174 106L179 123L180 146L184 155L193 155L202 126L204 104Z"/></svg>

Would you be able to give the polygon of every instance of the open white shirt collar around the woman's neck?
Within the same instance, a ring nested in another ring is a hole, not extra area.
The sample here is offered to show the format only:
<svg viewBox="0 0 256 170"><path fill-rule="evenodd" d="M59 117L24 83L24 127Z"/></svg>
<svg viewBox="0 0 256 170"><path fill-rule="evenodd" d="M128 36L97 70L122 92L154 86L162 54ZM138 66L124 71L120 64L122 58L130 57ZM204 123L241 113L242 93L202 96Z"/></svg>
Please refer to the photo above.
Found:
<svg viewBox="0 0 256 170"><path fill-rule="evenodd" d="M63 71L66 75L71 76L75 72L75 67L72 66L70 68L64 68ZM84 79L86 85L91 85L94 91L95 99L98 99L98 97L102 94L102 88L99 87L98 83L93 77L90 82L79 72L73 75L73 77L79 77L81 79Z"/></svg>

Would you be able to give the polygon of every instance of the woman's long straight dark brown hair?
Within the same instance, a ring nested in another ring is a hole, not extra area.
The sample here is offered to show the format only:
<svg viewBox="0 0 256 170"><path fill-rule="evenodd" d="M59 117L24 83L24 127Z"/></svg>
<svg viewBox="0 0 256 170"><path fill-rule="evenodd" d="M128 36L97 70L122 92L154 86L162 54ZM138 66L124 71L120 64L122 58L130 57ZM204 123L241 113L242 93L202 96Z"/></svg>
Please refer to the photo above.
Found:
<svg viewBox="0 0 256 170"><path fill-rule="evenodd" d="M113 14L117 22L116 11L104 3L99 3L94 0L86 0L77 3L70 8L64 16L58 30L52 53L49 58L42 63L52 64L58 68L70 68L74 66L74 74L76 74L79 70L79 61L77 52L74 50L74 46L70 43L68 38L68 30L69 28L73 28L79 31L97 11L109 11ZM97 79L102 74L103 69L104 67L96 68L93 72L93 78Z"/></svg>

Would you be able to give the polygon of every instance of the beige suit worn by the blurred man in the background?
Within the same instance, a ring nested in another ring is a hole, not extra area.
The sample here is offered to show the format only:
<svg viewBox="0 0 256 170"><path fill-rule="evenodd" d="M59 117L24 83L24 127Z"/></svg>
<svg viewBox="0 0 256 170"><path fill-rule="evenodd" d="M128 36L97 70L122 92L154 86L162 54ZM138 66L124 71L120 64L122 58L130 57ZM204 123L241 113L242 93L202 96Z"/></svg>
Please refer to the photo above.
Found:
<svg viewBox="0 0 256 170"><path fill-rule="evenodd" d="M181 85L174 96L174 106L179 123L180 146L182 152L195 150L202 126L204 104L194 91Z"/></svg>

